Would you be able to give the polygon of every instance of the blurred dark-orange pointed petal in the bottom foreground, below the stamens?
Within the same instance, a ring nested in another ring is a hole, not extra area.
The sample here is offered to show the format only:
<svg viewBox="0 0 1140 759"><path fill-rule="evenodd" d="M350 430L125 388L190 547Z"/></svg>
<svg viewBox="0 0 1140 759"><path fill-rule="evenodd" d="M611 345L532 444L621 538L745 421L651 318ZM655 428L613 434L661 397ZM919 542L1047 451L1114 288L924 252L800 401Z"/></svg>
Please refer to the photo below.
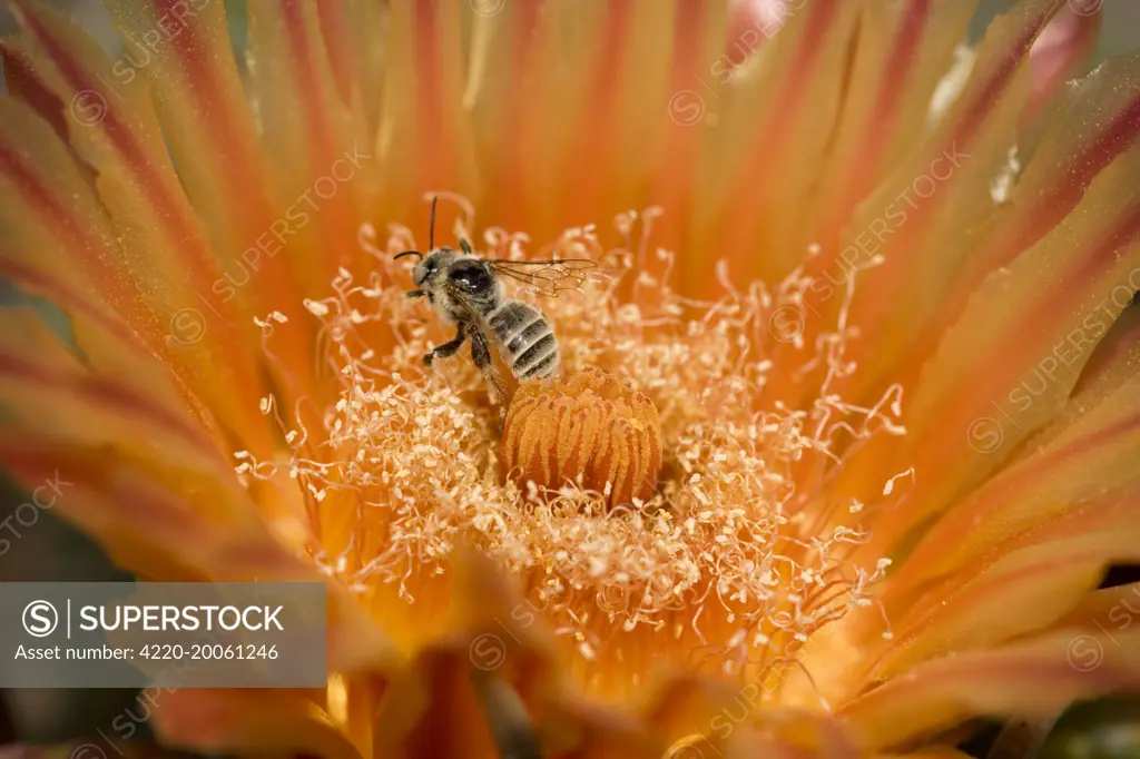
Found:
<svg viewBox="0 0 1140 759"><path fill-rule="evenodd" d="M486 558L461 552L456 576L457 632L421 645L391 682L374 731L378 756L496 756L496 736L510 736L504 750L521 749L530 729L551 757L662 754L663 735L645 720L565 689L545 630Z"/></svg>

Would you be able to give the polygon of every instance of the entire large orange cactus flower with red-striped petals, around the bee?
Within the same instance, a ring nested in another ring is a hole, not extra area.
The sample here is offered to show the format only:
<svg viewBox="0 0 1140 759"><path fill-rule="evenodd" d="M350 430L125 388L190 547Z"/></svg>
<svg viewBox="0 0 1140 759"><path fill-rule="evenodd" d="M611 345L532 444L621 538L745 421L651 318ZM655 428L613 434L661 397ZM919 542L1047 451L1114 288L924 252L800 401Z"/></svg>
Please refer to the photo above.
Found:
<svg viewBox="0 0 1140 759"><path fill-rule="evenodd" d="M107 5L122 58L36 0L0 48L0 272L70 328L2 313L0 460L141 579L329 589L324 692L169 693L165 744L952 756L1140 688L1140 63L1065 83L1088 5L283 0L244 58ZM542 302L564 384L424 368L425 196L610 272ZM514 447L575 403L637 484Z"/></svg>

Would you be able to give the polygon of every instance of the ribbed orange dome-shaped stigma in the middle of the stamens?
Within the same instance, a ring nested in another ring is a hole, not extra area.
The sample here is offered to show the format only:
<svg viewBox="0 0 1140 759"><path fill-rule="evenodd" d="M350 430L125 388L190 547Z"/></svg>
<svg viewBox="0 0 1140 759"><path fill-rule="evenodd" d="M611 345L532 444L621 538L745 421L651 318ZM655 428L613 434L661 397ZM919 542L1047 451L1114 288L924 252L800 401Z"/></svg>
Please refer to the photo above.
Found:
<svg viewBox="0 0 1140 759"><path fill-rule="evenodd" d="M661 424L649 398L586 368L553 383L524 382L507 409L500 451L520 482L552 490L576 482L613 507L653 495Z"/></svg>

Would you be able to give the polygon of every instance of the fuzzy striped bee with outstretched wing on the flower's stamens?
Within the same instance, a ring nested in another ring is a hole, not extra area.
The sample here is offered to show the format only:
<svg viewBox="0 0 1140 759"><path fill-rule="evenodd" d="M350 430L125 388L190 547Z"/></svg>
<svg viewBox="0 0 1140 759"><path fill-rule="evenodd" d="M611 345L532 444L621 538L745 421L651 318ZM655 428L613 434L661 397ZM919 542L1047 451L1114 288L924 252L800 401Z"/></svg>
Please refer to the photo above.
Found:
<svg viewBox="0 0 1140 759"><path fill-rule="evenodd" d="M543 312L529 303L506 297L503 278L514 279L539 293L556 296L577 289L586 280L586 270L596 264L587 259L511 261L481 259L465 239L459 250L435 248L435 201L432 199L427 232L427 254L420 251L398 253L420 258L412 274L416 288L407 297L426 297L439 317L457 328L455 338L424 354L424 364L449 358L471 341L471 359L494 386L499 398L503 389L495 378L490 349L503 357L519 379L556 376L561 369L559 342Z"/></svg>

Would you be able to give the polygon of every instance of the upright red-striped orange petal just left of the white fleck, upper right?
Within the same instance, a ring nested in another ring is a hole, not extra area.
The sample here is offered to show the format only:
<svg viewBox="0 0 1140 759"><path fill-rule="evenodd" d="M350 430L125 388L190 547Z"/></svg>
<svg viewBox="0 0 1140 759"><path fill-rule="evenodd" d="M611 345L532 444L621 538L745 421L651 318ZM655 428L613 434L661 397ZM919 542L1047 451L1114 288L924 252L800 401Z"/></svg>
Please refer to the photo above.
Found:
<svg viewBox="0 0 1140 759"><path fill-rule="evenodd" d="M852 266L864 266L869 258L858 253L860 246L876 245L873 235L893 234L896 221L903 218L894 210L891 217L883 218L887 209L876 205L878 218L857 228L854 242L849 235L844 237L844 225L857 204L901 162L917 150L925 155L928 149L922 140L931 98L952 67L975 5L910 0L868 3L863 9L834 147L819 172L819 197L811 218L801 225L800 236L789 242L791 251L803 260L806 276L814 280L804 293L807 318L803 321L803 340L807 345L834 325L846 300L846 283L855 276ZM939 171L943 169L953 166L939 164ZM905 218L898 223L904 222ZM870 231L865 231L868 228ZM817 252L805 255L809 246ZM862 281L863 275L860 277ZM798 351L791 342L781 343L772 360L776 366L803 360L795 356ZM773 377L765 395L795 403L797 392L817 386L790 375Z"/></svg>

